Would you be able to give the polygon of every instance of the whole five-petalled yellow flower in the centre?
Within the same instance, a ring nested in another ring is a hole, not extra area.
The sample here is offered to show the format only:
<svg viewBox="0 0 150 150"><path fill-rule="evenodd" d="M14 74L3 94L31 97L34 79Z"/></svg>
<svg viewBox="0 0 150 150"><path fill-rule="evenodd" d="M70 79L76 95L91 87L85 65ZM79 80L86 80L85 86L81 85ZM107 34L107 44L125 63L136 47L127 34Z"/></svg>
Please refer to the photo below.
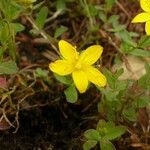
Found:
<svg viewBox="0 0 150 150"><path fill-rule="evenodd" d="M106 85L105 76L92 66L102 54L103 48L100 45L90 46L81 54L64 40L60 40L58 45L63 59L50 63L51 71L61 76L71 74L80 93L86 91L89 81L100 87Z"/></svg>

